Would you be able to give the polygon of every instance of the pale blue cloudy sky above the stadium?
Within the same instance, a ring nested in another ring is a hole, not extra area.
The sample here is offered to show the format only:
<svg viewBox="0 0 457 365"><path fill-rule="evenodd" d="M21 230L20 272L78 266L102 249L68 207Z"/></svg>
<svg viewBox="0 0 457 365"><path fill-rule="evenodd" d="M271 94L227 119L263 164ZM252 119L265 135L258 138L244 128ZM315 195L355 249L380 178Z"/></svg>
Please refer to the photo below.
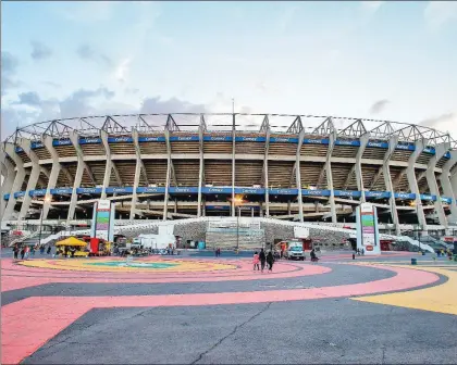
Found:
<svg viewBox="0 0 457 365"><path fill-rule="evenodd" d="M54 118L230 113L232 98L457 139L456 45L450 1L2 1L2 139Z"/></svg>

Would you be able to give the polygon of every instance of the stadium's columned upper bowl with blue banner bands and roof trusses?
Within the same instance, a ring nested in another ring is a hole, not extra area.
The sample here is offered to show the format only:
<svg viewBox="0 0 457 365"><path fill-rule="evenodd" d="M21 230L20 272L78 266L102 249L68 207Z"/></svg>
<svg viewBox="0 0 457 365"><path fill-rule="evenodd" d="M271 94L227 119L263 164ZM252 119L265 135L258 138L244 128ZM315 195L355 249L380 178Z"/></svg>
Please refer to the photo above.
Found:
<svg viewBox="0 0 457 365"><path fill-rule="evenodd" d="M313 127L309 127L312 125ZM337 128L336 126L344 126ZM457 219L457 150L410 124L277 114L107 115L37 123L2 144L3 219L255 214L332 222ZM243 210L235 206L243 196ZM238 212L238 213L237 213Z"/></svg>

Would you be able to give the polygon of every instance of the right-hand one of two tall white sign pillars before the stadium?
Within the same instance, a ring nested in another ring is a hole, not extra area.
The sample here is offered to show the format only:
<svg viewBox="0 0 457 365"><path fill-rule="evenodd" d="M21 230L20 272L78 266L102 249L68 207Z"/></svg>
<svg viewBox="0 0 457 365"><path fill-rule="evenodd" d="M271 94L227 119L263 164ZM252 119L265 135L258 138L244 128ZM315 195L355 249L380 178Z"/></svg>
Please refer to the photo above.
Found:
<svg viewBox="0 0 457 365"><path fill-rule="evenodd" d="M370 203L357 206L357 249L365 254L381 254L376 207Z"/></svg>

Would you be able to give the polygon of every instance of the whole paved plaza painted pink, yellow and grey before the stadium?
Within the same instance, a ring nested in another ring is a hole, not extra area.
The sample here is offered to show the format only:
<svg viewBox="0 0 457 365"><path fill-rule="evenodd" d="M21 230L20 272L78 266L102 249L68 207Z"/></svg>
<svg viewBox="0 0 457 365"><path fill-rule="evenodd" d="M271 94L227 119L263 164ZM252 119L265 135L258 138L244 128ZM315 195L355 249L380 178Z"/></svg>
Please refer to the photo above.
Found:
<svg viewBox="0 0 457 365"><path fill-rule="evenodd" d="M2 364L456 362L457 265L445 259L329 253L258 273L236 256L7 252L1 265Z"/></svg>

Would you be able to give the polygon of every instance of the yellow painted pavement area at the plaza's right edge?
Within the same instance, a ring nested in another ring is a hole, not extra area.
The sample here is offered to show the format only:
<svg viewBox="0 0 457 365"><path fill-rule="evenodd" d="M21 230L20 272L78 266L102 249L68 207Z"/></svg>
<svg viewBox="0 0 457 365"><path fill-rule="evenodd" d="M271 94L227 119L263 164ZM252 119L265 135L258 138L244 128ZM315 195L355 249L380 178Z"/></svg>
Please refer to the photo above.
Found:
<svg viewBox="0 0 457 365"><path fill-rule="evenodd" d="M448 280L442 285L425 289L350 299L360 302L395 305L457 315L457 272L443 267L431 266L408 266L408 268L441 274L447 276Z"/></svg>

